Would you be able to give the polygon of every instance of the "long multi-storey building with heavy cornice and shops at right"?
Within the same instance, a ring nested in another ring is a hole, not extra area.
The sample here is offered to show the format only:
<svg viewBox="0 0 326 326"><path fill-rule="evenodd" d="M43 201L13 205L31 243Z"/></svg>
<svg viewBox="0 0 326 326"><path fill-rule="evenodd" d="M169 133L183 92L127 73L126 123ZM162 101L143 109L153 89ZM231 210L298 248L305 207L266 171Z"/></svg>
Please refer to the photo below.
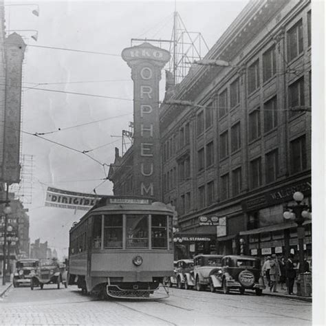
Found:
<svg viewBox="0 0 326 326"><path fill-rule="evenodd" d="M284 206L311 204L310 1L250 1L160 107L162 200L177 207L178 258L297 253ZM217 224L219 224L217 226ZM305 221L305 253L312 248Z"/></svg>

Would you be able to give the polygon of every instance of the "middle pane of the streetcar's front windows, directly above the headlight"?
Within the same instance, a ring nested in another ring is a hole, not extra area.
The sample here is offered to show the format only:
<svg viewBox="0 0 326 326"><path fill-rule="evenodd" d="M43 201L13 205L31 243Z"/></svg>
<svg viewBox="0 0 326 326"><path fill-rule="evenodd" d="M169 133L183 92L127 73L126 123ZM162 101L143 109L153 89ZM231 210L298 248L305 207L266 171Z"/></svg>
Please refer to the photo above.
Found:
<svg viewBox="0 0 326 326"><path fill-rule="evenodd" d="M127 215L127 248L149 247L149 215Z"/></svg>

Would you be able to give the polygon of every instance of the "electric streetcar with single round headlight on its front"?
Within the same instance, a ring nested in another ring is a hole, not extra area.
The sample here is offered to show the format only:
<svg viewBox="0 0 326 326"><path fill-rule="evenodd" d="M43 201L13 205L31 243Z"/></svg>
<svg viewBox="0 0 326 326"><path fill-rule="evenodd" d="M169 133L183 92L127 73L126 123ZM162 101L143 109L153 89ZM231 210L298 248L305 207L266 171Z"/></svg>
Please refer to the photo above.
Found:
<svg viewBox="0 0 326 326"><path fill-rule="evenodd" d="M100 199L69 231L68 284L108 298L166 298L173 208L145 197Z"/></svg>

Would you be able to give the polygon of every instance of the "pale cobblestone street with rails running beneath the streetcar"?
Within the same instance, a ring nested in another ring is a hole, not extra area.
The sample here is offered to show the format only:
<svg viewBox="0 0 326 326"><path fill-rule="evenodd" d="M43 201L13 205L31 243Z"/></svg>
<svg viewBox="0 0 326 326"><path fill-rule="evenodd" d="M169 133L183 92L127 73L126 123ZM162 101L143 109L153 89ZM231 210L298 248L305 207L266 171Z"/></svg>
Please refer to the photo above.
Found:
<svg viewBox="0 0 326 326"><path fill-rule="evenodd" d="M1 325L311 325L312 304L289 298L171 289L162 301L100 301L76 287L11 288Z"/></svg>

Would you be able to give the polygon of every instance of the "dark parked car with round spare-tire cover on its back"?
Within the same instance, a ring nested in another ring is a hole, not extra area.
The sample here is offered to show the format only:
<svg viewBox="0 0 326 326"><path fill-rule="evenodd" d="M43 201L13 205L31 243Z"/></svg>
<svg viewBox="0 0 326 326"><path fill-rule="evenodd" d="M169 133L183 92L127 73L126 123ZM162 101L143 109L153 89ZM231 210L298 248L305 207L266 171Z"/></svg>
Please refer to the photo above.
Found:
<svg viewBox="0 0 326 326"><path fill-rule="evenodd" d="M250 256L224 256L222 267L210 274L210 291L223 289L228 294L230 289L239 289L243 294L246 289L254 290L261 296L265 285L261 276L261 262L259 258Z"/></svg>

